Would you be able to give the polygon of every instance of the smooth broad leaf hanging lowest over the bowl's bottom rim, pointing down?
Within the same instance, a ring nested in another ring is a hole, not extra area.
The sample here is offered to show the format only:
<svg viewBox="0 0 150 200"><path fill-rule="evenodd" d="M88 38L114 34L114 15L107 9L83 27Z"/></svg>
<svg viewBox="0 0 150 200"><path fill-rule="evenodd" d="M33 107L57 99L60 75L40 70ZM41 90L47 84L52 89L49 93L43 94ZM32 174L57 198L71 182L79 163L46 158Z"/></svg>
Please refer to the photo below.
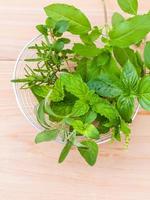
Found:
<svg viewBox="0 0 150 200"><path fill-rule="evenodd" d="M87 147L87 149L78 148L81 156L89 165L93 166L96 163L98 156L98 145L94 141L83 141L81 144Z"/></svg>

